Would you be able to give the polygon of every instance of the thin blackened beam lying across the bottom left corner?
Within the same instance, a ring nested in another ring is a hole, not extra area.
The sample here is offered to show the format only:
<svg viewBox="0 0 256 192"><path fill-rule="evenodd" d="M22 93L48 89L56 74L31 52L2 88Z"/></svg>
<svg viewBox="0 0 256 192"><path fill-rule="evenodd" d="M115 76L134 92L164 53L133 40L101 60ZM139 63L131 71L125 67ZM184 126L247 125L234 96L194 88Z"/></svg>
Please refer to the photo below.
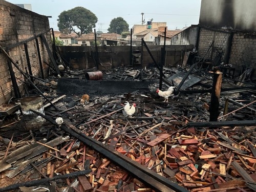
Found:
<svg viewBox="0 0 256 192"><path fill-rule="evenodd" d="M91 169L87 169L87 170L81 170L80 172L74 172L74 173L65 174L65 175L58 175L58 176L53 177L53 178L27 181L27 182L23 182L23 183L16 183L16 184L13 184L13 185L9 185L9 186L0 188L0 192L14 190L14 189L17 189L17 188L22 187L22 186L31 187L31 186L36 186L36 185L49 183L50 181L54 181L54 180L58 180L58 179L66 179L66 178L69 178L69 177L77 177L77 176L80 176L80 175L87 175L91 172L92 172Z"/></svg>

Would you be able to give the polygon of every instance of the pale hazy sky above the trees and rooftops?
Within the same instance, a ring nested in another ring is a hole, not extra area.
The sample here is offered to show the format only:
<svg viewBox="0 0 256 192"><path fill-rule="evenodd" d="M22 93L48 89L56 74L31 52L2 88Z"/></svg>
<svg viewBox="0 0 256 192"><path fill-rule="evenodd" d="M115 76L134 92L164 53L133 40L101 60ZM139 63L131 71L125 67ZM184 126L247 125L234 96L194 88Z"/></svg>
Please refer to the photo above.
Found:
<svg viewBox="0 0 256 192"><path fill-rule="evenodd" d="M98 17L96 31L108 32L113 18L123 17L131 29L133 25L140 25L141 13L145 22L153 18L153 22L166 22L168 30L182 29L199 22L201 0L8 0L12 4L31 4L32 11L49 18L50 27L58 30L57 19L62 11L74 7L84 7Z"/></svg>

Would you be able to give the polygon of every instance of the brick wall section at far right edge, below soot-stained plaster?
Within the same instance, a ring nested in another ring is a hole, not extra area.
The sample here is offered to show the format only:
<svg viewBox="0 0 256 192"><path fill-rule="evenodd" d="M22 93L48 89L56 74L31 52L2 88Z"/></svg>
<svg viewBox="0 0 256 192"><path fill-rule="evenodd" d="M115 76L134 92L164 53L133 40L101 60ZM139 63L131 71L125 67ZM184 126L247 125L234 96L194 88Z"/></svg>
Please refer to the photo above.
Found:
<svg viewBox="0 0 256 192"><path fill-rule="evenodd" d="M237 73L243 66L256 68L256 35L233 35L229 63L236 68Z"/></svg>

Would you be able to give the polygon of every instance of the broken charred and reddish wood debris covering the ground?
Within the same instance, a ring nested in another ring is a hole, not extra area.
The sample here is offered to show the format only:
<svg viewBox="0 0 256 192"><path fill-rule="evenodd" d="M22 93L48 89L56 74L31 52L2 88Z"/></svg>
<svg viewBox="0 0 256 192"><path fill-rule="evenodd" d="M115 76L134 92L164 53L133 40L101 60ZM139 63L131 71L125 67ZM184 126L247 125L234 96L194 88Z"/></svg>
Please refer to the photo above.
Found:
<svg viewBox="0 0 256 192"><path fill-rule="evenodd" d="M186 71L164 67L162 90L177 87L169 77ZM85 73L69 69L61 78ZM102 73L103 80L159 82L155 68ZM34 78L51 103L42 97L45 114L31 111L46 122L27 130L22 111L1 117L0 191L255 191L255 82L223 78L218 121L209 121L213 76L190 76L168 102L155 83L147 91L89 94L84 105L88 93L59 95L59 78ZM40 95L29 88L25 95ZM136 103L132 117L125 101Z"/></svg>

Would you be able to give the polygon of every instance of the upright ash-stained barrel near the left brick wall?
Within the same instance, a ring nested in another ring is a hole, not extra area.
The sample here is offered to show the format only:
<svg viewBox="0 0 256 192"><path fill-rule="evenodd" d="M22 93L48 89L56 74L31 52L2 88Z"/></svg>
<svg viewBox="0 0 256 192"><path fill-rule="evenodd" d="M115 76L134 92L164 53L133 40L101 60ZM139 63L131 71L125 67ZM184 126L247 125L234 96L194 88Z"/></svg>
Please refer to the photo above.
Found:
<svg viewBox="0 0 256 192"><path fill-rule="evenodd" d="M27 130L39 129L46 122L46 119L29 111L34 110L45 115L41 96L30 96L20 99L20 106L23 113L23 121Z"/></svg>

